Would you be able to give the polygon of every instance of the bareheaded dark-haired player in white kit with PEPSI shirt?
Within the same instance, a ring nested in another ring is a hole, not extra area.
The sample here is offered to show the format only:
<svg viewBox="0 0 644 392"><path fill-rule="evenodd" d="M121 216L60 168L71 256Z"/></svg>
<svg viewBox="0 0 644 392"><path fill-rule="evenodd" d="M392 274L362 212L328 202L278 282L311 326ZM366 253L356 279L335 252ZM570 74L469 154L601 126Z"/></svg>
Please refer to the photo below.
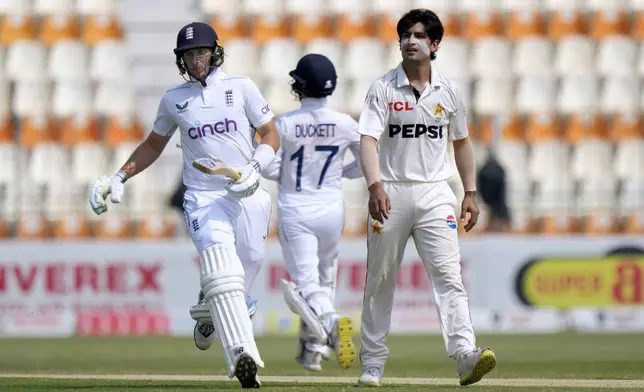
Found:
<svg viewBox="0 0 644 392"><path fill-rule="evenodd" d="M458 363L460 384L481 380L496 365L491 349L475 345L459 264L447 143L454 143L465 190L460 221L470 214L466 231L478 217L475 163L463 94L431 66L443 31L438 16L426 9L400 19L402 62L371 85L360 115L360 158L370 194L358 381L363 386L380 385L384 373L396 278L410 236L432 282L445 348Z"/></svg>

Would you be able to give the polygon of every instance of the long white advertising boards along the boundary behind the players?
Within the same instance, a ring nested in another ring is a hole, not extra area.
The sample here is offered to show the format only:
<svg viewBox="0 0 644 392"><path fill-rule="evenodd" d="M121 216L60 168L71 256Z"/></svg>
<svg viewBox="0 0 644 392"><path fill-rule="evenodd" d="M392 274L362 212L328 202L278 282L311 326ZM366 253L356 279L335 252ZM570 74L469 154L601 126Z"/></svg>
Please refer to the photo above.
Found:
<svg viewBox="0 0 644 392"><path fill-rule="evenodd" d="M192 333L188 309L199 291L199 263L190 242L7 241L0 249L0 336ZM464 239L461 268L476 328L641 328L644 317L633 314L644 307L613 311L642 304L638 249L644 239L636 237ZM364 240L341 244L335 302L358 324L365 257ZM259 334L298 327L279 288L282 277L281 248L270 242L251 292L259 300L253 320ZM394 301L392 333L440 330L431 282L412 242ZM602 307L609 310L593 310Z"/></svg>

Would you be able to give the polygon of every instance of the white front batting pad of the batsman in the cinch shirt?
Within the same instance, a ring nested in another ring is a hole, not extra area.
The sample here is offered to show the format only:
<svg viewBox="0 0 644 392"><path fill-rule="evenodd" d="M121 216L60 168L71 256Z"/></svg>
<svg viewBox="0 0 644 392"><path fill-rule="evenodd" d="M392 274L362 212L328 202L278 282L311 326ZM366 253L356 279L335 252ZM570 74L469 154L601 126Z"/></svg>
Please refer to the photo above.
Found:
<svg viewBox="0 0 644 392"><path fill-rule="evenodd" d="M219 336L228 366L228 377L235 375L239 356L250 355L264 367L248 316L244 293L244 268L234 246L216 244L201 254L201 289L206 297L212 323Z"/></svg>

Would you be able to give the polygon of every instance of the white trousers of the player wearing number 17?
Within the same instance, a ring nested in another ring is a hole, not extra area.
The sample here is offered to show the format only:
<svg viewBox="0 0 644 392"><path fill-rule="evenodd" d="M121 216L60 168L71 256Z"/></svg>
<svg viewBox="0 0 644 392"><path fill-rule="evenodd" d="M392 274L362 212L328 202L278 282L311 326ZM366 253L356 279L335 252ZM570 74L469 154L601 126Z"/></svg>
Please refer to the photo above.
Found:
<svg viewBox="0 0 644 392"><path fill-rule="evenodd" d="M344 204L336 202L316 219L294 219L278 210L277 221L286 270L313 310L321 316L335 313L333 288Z"/></svg>

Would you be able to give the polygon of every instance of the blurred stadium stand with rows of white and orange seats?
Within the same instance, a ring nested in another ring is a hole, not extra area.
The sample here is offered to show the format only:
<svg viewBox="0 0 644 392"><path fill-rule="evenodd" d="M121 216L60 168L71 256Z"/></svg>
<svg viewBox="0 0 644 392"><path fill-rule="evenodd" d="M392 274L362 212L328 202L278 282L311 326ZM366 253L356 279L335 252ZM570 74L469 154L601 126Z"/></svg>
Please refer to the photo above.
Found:
<svg viewBox="0 0 644 392"><path fill-rule="evenodd" d="M0 2L0 236L182 231L166 203L180 173L174 142L128 183L122 208L96 219L86 199L181 82L171 49L188 19L216 28L224 69L253 78L278 114L298 106L297 59L327 55L340 78L331 105L357 117L371 82L399 61L398 18L428 4L446 28L435 65L465 92L477 162L493 149L507 172L511 231L644 233L644 0L157 3ZM458 176L451 183L462 192ZM362 235L362 180L346 181L345 196L346 235Z"/></svg>

